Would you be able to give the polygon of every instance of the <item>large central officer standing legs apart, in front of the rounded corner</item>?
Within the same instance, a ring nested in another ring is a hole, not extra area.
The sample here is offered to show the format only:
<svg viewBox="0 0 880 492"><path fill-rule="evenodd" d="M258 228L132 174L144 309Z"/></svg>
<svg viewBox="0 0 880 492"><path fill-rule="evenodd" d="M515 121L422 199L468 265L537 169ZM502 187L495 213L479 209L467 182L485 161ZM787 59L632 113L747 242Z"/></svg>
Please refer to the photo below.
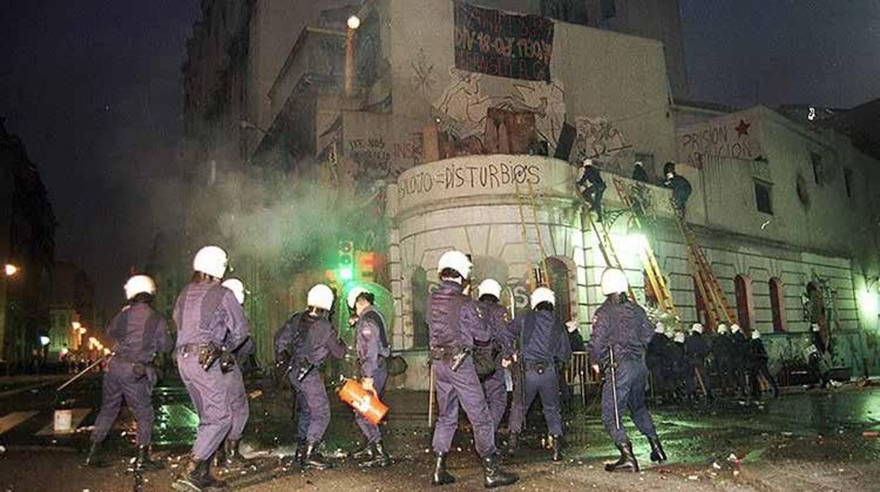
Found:
<svg viewBox="0 0 880 492"><path fill-rule="evenodd" d="M473 426L474 444L483 462L483 485L493 488L510 485L519 477L499 466L495 426L470 356L475 341L488 343L491 340L477 313L476 302L464 293L471 267L465 253L444 253L437 264L440 285L428 300L431 371L438 410L433 437L436 465L431 483L444 485L455 481L446 470L446 457L458 428L458 406L461 405Z"/></svg>

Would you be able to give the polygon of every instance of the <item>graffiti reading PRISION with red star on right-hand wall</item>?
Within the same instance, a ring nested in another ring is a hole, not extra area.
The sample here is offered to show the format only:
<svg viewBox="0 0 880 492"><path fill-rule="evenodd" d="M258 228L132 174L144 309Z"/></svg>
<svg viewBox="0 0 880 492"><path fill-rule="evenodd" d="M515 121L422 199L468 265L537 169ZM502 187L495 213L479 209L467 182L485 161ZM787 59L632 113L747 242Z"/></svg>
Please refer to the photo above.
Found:
<svg viewBox="0 0 880 492"><path fill-rule="evenodd" d="M678 130L678 158L693 167L702 168L706 158L763 157L759 123L748 115L734 114Z"/></svg>

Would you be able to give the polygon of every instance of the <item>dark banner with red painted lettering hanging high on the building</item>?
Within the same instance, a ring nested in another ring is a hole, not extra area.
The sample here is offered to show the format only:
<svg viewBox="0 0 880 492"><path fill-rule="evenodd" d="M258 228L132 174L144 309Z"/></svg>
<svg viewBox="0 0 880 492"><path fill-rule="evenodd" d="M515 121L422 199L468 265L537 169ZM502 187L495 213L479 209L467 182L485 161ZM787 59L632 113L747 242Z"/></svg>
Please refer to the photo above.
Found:
<svg viewBox="0 0 880 492"><path fill-rule="evenodd" d="M521 80L550 81L554 22L455 2L455 66Z"/></svg>

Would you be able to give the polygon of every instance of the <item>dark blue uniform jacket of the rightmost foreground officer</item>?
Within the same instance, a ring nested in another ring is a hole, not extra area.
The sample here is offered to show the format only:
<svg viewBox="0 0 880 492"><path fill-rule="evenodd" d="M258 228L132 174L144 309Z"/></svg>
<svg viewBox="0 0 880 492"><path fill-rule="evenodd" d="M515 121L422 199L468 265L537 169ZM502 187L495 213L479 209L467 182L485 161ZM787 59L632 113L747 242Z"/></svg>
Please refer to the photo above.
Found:
<svg viewBox="0 0 880 492"><path fill-rule="evenodd" d="M614 348L614 362L642 360L645 348L654 336L654 327L639 305L611 299L598 307L593 316L590 336L590 361L608 363L610 347Z"/></svg>

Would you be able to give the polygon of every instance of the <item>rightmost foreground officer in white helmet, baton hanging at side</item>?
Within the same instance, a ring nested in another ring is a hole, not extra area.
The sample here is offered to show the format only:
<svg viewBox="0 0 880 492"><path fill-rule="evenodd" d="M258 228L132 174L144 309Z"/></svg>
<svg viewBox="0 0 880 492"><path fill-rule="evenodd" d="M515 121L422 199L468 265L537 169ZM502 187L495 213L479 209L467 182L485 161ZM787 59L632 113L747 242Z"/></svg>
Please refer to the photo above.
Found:
<svg viewBox="0 0 880 492"><path fill-rule="evenodd" d="M605 470L638 472L639 464L633 454L633 444L623 428L620 412L629 408L630 417L651 445L651 461L664 461L666 453L657 437L654 422L645 406L645 385L648 367L645 366L645 348L654 330L644 310L627 299L627 275L617 268L602 273L602 293L605 302L593 316L593 334L590 339L590 360L593 369L605 371L602 386L602 422L605 430L620 450L620 459L605 465Z"/></svg>

